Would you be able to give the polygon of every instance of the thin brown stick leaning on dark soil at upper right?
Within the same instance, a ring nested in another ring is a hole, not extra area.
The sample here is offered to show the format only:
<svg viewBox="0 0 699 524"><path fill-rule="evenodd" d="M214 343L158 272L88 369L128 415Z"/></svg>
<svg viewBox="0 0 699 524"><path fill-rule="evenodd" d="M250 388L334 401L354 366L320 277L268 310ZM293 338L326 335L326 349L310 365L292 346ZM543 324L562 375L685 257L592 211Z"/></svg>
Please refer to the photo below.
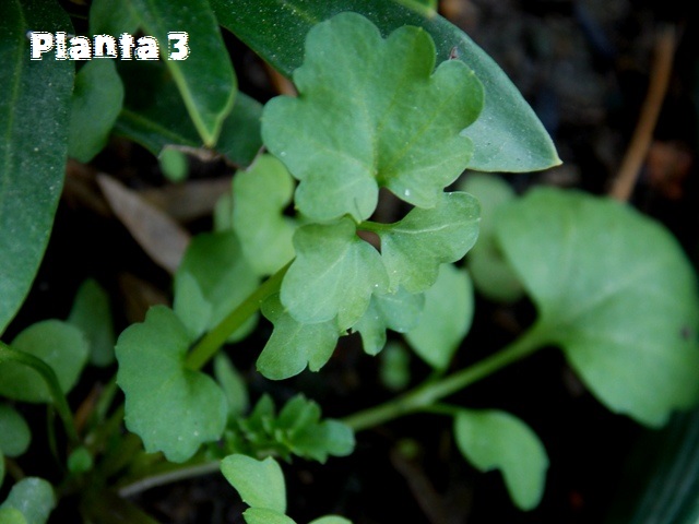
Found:
<svg viewBox="0 0 699 524"><path fill-rule="evenodd" d="M612 184L609 196L626 202L631 196L645 155L653 140L653 131L657 123L675 55L675 28L664 26L657 34L654 46L654 59L651 68L650 85L643 100L641 116L633 131L621 167Z"/></svg>

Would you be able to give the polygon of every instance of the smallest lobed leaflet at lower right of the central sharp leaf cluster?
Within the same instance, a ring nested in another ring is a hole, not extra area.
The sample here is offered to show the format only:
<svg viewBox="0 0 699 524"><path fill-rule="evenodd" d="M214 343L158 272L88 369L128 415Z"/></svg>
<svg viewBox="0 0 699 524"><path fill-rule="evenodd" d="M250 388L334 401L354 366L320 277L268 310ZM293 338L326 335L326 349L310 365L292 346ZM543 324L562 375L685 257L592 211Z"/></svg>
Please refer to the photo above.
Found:
<svg viewBox="0 0 699 524"><path fill-rule="evenodd" d="M399 287L394 294L372 295L364 317L352 327L359 332L364 350L378 355L386 345L386 330L406 333L419 322L425 295L407 293Z"/></svg>

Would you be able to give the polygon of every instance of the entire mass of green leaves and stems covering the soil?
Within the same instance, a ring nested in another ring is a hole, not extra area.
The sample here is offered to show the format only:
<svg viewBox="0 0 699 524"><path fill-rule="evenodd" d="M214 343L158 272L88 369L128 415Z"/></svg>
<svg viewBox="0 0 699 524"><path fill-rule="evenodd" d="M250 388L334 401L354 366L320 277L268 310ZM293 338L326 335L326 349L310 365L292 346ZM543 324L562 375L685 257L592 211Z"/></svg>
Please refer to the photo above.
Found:
<svg viewBox="0 0 699 524"><path fill-rule="evenodd" d="M91 34L141 27L163 46L185 23L185 8L170 2L118 3L93 2ZM171 152L202 144L239 168L215 230L194 237L178 265L171 308L153 307L115 344L108 297L87 281L67 321L0 343L0 479L16 480L0 522L46 522L55 495L80 496L87 522L153 522L115 490L128 496L218 468L250 505L248 523L293 522L275 458L345 456L354 432L415 413L449 417L464 457L500 469L513 502L532 509L548 464L535 432L496 406L442 401L550 346L603 404L640 422L661 426L696 403L695 275L662 226L580 192L514 198L493 177L458 181L466 168L526 171L559 160L503 73L455 27L408 1L199 0L187 9L198 13L187 21L188 60L93 61L73 79L67 61L31 62L24 39L43 24L67 29L66 13L38 2L0 7L0 63L10 64L0 70L0 331L40 261L67 155L90 162L114 130L158 155L174 178L182 169L171 167L181 160ZM218 24L293 73L299 96L262 108L238 93ZM42 105L47 84L56 98ZM262 144L268 153L258 154ZM380 189L407 210L394 222L374 219ZM467 191L483 203L483 226ZM473 314L471 277L454 264L474 245L473 286L505 299L526 293L537 319L500 352L452 370ZM321 370L353 333L377 355L387 330L403 333L433 373L342 420L323 419L301 393L279 415L270 396L248 414L247 386L222 347L244 341L258 312L273 325L257 359L266 379ZM115 379L76 427L66 395L88 362L108 367L115 357ZM22 478L14 460L31 438L23 403L48 406L50 451L63 469L54 490Z"/></svg>

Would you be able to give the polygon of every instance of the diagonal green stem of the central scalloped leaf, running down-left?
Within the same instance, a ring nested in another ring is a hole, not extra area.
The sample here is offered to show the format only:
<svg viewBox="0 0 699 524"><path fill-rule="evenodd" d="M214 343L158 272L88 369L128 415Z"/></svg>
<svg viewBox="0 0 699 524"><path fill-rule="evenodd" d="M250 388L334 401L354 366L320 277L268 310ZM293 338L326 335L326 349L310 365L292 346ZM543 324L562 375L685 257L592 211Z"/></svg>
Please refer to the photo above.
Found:
<svg viewBox="0 0 699 524"><path fill-rule="evenodd" d="M292 265L292 262L264 281L240 306L234 309L218 325L206 333L189 354L185 365L189 369L199 370L211 360L230 334L260 309L264 299L280 290L282 281L289 265Z"/></svg>

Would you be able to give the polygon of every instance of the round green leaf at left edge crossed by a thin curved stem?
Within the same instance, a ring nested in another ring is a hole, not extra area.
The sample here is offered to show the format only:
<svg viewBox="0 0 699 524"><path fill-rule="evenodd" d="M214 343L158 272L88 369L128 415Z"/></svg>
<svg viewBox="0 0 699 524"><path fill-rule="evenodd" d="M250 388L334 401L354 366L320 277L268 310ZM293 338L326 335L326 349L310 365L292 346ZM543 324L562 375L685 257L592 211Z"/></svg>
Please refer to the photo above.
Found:
<svg viewBox="0 0 699 524"><path fill-rule="evenodd" d="M50 366L63 393L68 393L78 382L90 353L83 333L60 320L32 324L14 338L11 346ZM23 402L52 400L44 378L34 369L14 361L0 364L0 395Z"/></svg>

